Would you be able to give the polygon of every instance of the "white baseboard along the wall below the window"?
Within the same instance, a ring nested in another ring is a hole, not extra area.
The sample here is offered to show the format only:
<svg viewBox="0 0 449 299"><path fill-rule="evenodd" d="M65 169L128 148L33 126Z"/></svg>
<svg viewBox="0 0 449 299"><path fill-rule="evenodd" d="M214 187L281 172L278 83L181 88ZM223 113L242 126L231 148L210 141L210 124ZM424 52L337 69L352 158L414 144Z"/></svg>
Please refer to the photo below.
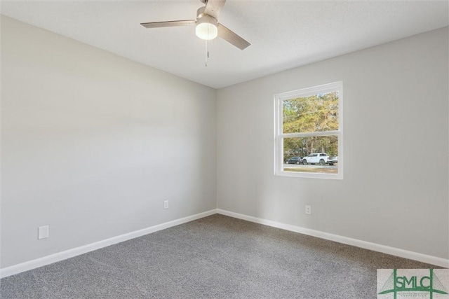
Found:
<svg viewBox="0 0 449 299"><path fill-rule="evenodd" d="M445 258L438 258L436 256L428 256L427 254L423 254L423 253L407 251L404 249L398 249L398 248L394 248L394 247L390 247L390 246L375 244L375 243L371 243L371 242L362 241L359 239L352 239L349 237L342 237L340 235L333 235L328 232L321 232L319 230L311 230L309 228L302 228L300 226L289 225L289 224L280 223L280 222L276 222L276 221L270 221L270 220L266 220L266 219L262 219L262 218L256 218L253 216L246 216L243 214L234 213L232 211L225 211L222 209L217 209L217 213L225 215L225 216L239 218L239 219L250 221L250 222L269 225L274 228L281 228L283 230L299 232L300 234L304 234L304 235L310 235L313 237L319 237L321 239L328 239L330 241L335 241L335 242L339 242L342 244L357 246L357 247L361 247L363 249L370 249L370 250L377 251L377 252L387 253L387 254L391 254L391 256L399 256L401 258L408 258L410 260L417 260L422 263L428 263L431 265L437 265L440 267L449 268L449 260L447 260Z"/></svg>

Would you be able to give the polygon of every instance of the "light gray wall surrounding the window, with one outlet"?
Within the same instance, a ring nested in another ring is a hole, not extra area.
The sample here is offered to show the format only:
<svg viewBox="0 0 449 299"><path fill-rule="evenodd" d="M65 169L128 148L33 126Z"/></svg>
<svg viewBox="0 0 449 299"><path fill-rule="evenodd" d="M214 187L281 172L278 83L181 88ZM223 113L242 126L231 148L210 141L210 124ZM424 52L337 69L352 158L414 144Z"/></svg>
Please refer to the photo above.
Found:
<svg viewBox="0 0 449 299"><path fill-rule="evenodd" d="M274 176L273 95L335 81L344 179ZM447 27L223 88L217 207L449 258L448 127Z"/></svg>

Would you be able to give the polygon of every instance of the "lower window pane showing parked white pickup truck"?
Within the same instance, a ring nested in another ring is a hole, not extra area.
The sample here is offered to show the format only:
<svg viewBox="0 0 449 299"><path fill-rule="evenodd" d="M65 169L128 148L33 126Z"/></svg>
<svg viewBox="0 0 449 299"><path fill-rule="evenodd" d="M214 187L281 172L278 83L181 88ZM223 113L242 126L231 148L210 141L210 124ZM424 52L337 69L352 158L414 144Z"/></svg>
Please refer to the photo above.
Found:
<svg viewBox="0 0 449 299"><path fill-rule="evenodd" d="M283 171L338 173L338 137L283 139Z"/></svg>

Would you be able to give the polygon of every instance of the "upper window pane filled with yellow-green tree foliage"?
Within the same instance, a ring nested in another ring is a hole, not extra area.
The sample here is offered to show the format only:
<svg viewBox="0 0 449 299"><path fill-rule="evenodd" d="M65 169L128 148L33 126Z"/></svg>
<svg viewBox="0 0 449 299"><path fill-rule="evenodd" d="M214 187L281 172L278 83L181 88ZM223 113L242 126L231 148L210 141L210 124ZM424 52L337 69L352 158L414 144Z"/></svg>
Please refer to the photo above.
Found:
<svg viewBox="0 0 449 299"><path fill-rule="evenodd" d="M283 133L338 130L338 92L282 101Z"/></svg>

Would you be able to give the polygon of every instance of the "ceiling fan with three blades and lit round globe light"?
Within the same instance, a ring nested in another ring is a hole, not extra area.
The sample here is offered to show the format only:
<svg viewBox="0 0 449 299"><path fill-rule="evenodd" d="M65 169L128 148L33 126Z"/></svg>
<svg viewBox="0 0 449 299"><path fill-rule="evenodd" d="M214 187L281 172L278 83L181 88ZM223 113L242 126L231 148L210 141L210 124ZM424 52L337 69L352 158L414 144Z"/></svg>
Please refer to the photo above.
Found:
<svg viewBox="0 0 449 299"><path fill-rule="evenodd" d="M145 28L158 28L158 27L177 27L177 26L189 26L196 25L196 36L206 41L215 39L220 36L222 39L237 48L243 50L250 46L248 41L245 41L240 36L227 29L227 27L221 25L218 20L218 15L223 6L225 6L226 0L200 0L206 6L198 8L196 11L196 20L180 20L180 21L167 21L167 22L149 22L140 23Z"/></svg>

